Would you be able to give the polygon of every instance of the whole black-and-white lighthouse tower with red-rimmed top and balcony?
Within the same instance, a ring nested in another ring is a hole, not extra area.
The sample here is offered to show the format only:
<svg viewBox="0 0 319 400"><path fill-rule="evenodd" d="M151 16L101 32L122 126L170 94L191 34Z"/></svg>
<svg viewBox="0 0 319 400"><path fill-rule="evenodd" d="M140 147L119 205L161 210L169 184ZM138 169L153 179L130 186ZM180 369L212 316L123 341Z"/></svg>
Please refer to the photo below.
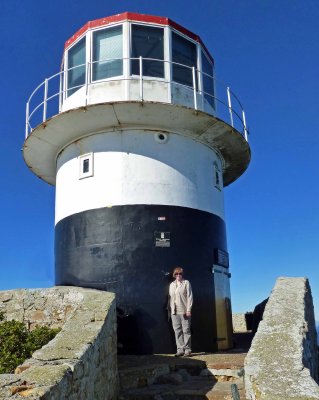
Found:
<svg viewBox="0 0 319 400"><path fill-rule="evenodd" d="M223 192L250 148L199 36L136 13L88 22L28 100L23 155L56 186L56 284L116 293L123 352L175 350L176 266L193 288L193 350L232 346Z"/></svg>

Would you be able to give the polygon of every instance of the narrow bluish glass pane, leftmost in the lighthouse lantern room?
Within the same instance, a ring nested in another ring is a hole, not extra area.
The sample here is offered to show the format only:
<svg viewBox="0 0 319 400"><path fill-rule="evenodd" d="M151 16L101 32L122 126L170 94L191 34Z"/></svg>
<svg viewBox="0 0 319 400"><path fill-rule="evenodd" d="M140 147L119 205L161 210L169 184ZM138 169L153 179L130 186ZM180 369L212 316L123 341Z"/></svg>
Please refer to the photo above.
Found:
<svg viewBox="0 0 319 400"><path fill-rule="evenodd" d="M85 51L84 37L68 52L68 96L85 84Z"/></svg>

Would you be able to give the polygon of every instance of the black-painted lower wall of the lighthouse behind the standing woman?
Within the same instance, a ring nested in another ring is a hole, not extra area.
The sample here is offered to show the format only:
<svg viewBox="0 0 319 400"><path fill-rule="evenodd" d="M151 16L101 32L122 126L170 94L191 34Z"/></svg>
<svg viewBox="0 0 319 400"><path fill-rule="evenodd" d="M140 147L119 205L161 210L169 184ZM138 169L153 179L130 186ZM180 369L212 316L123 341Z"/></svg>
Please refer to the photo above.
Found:
<svg viewBox="0 0 319 400"><path fill-rule="evenodd" d="M208 212L160 205L88 210L56 225L56 284L115 292L122 352L168 353L176 350L168 273L181 266L194 294L192 349L214 351L214 248L226 250L225 224Z"/></svg>

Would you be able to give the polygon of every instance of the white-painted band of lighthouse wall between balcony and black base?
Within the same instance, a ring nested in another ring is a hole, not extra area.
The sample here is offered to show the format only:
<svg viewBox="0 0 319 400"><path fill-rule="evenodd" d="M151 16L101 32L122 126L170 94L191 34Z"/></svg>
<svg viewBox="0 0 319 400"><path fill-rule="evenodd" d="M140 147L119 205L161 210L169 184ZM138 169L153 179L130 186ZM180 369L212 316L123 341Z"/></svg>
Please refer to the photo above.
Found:
<svg viewBox="0 0 319 400"><path fill-rule="evenodd" d="M224 220L219 156L177 134L127 130L95 134L67 146L57 159L56 223L86 210L116 205L173 205ZM80 179L79 156L93 152L93 174Z"/></svg>

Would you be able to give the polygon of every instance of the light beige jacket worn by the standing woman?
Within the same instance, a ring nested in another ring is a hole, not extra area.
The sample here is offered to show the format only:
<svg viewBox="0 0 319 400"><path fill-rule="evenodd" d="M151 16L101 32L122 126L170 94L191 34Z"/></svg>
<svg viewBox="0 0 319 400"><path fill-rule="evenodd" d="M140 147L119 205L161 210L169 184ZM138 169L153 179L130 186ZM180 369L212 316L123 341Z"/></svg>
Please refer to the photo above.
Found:
<svg viewBox="0 0 319 400"><path fill-rule="evenodd" d="M169 286L169 304L171 307L171 313L176 314L176 304L178 309L186 312L191 312L193 305L193 293L191 284L189 281L182 280L181 287L177 289L177 282L174 281Z"/></svg>

